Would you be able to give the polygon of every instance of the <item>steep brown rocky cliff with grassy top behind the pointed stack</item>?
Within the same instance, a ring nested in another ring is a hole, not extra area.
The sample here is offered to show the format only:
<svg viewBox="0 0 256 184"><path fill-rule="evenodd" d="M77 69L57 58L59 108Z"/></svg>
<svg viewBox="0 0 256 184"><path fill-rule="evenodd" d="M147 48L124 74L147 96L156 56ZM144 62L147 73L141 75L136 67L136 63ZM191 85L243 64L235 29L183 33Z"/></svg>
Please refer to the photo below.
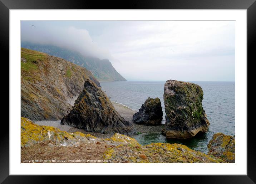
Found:
<svg viewBox="0 0 256 184"><path fill-rule="evenodd" d="M21 48L21 116L58 120L66 116L92 73L64 59Z"/></svg>

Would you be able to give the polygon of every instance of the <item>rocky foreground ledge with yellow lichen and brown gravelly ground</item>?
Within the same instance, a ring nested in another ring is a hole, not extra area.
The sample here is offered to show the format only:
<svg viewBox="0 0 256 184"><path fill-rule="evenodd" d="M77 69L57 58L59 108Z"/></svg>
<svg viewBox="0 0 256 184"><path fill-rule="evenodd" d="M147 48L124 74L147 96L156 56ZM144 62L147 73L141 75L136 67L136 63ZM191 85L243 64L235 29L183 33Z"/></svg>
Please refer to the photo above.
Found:
<svg viewBox="0 0 256 184"><path fill-rule="evenodd" d="M135 139L118 133L100 139L81 132L68 133L39 126L22 117L21 163L27 160L43 160L36 163L225 163L182 144L142 146Z"/></svg>

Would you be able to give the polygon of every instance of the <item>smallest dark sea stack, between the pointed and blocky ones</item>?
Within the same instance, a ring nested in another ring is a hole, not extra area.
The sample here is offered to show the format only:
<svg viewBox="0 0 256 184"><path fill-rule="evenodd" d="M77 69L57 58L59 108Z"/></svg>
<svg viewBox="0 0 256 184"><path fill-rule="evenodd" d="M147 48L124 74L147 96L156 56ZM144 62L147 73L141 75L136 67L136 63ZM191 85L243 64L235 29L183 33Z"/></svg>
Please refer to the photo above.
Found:
<svg viewBox="0 0 256 184"><path fill-rule="evenodd" d="M162 119L163 111L159 98L148 98L139 112L133 114L133 121L137 124L157 125L161 124Z"/></svg>

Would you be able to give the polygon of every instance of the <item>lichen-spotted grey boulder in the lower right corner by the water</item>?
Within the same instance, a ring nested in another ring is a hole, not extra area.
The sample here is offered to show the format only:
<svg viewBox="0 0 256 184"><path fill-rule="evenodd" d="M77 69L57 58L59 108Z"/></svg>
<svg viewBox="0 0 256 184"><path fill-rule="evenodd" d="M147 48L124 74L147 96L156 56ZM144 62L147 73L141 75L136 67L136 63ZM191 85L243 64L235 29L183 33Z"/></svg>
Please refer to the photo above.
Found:
<svg viewBox="0 0 256 184"><path fill-rule="evenodd" d="M208 144L208 155L213 155L228 163L235 163L235 136L216 133Z"/></svg>

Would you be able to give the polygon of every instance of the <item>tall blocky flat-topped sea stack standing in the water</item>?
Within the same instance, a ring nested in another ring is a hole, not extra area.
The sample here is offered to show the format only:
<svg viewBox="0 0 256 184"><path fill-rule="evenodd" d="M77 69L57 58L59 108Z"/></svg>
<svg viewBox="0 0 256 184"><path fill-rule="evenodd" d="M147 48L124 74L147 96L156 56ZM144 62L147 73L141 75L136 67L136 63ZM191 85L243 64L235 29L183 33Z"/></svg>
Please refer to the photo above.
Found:
<svg viewBox="0 0 256 184"><path fill-rule="evenodd" d="M206 132L210 125L202 107L203 90L200 86L176 80L164 84L167 138L186 139L198 132Z"/></svg>

